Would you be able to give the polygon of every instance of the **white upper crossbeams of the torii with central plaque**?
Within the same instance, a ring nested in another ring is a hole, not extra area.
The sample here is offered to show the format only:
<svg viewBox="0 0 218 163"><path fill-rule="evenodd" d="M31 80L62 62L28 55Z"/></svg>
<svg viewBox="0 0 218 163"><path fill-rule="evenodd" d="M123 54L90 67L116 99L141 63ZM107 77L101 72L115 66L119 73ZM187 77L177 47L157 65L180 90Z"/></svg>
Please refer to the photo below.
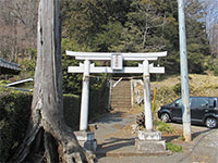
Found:
<svg viewBox="0 0 218 163"><path fill-rule="evenodd" d="M148 52L148 53L106 53L106 52L75 52L66 51L68 55L75 57L76 60L88 61L105 61L111 60L111 66L95 66L95 64L88 65L88 73L144 73L144 65L138 64L135 67L123 67L122 61L154 61L158 57L166 57L165 52ZM69 66L69 73L84 73L85 65L80 63L80 66ZM154 67L154 64L149 64L149 73L165 73L165 67Z"/></svg>

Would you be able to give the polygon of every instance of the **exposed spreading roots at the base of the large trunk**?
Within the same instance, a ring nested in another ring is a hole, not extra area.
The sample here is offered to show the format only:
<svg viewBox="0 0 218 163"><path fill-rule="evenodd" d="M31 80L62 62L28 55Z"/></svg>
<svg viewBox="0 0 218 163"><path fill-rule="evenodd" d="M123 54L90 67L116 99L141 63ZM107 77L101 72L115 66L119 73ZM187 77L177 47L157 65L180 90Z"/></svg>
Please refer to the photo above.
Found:
<svg viewBox="0 0 218 163"><path fill-rule="evenodd" d="M34 127L26 136L19 151L10 162L37 162L37 163L95 163L97 162L92 151L82 148L75 137L72 139L56 139L46 133L43 127Z"/></svg>

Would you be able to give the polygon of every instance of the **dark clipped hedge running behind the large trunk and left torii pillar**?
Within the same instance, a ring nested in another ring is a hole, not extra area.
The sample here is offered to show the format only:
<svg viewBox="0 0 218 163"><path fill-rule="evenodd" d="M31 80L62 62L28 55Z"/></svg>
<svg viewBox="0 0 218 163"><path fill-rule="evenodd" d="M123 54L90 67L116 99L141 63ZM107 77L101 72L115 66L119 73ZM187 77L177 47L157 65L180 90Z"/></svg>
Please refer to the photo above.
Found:
<svg viewBox="0 0 218 163"><path fill-rule="evenodd" d="M105 85L102 85L105 86ZM98 87L90 91L89 117L95 118L102 113L104 101L107 98L106 88ZM31 117L32 92L0 90L0 162L7 162L24 139ZM81 99L78 96L63 96L63 113L65 123L73 129L78 129Z"/></svg>

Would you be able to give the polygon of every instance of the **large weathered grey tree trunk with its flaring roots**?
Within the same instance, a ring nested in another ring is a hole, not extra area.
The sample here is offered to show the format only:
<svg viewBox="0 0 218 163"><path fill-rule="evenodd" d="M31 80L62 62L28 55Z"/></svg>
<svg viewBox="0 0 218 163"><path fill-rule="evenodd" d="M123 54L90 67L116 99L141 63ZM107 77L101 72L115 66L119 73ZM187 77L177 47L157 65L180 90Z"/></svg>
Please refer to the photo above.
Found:
<svg viewBox="0 0 218 163"><path fill-rule="evenodd" d="M64 123L59 0L41 0L32 121L13 162L94 162Z"/></svg>

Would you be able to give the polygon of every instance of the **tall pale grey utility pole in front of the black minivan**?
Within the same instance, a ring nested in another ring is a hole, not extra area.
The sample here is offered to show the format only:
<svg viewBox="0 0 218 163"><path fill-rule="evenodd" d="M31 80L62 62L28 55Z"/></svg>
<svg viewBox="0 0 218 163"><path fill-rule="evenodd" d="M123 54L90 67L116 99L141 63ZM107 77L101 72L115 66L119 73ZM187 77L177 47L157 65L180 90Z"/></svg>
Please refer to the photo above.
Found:
<svg viewBox="0 0 218 163"><path fill-rule="evenodd" d="M185 35L185 14L184 0L178 0L179 30L180 30L180 70L181 70L181 90L182 90L182 121L183 136L185 141L192 140L191 111L190 111L190 88L187 73L187 53Z"/></svg>

